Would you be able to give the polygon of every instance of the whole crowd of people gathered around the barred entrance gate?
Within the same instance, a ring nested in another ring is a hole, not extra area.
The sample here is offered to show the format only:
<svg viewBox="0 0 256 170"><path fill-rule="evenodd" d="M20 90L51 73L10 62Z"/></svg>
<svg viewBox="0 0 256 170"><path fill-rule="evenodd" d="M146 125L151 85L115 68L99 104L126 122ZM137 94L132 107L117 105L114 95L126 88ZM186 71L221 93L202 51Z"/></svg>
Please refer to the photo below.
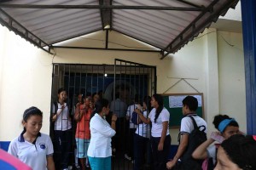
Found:
<svg viewBox="0 0 256 170"><path fill-rule="evenodd" d="M84 98L82 102L83 97L79 96L79 98L73 116L77 122L76 156L79 157L83 169L88 158L92 170L110 170L113 153L111 140L116 134L118 116L113 113L108 120L110 112L108 99ZM73 136L72 120L65 99L67 99L66 91L60 88L58 102L53 105L54 114L51 116L52 121L55 122L54 144L49 135L40 133L43 123L42 111L37 107L30 107L23 114L24 130L11 141L8 152L32 169L67 169ZM198 101L195 97L187 96L183 99L184 117L181 120L180 142L172 160L168 160L172 141L169 133L170 113L164 107L162 96L160 94L154 94L151 98L146 96L143 99L143 105L134 107L138 126L133 137L133 169L142 168L143 158L148 151L144 146L147 144L150 145L148 155L152 156L150 160L153 169L186 170L189 167L191 169L189 163L183 160L189 145L189 133L194 130L189 116L194 118L198 127L205 127L204 133L207 133L207 122L196 115L197 107ZM254 161L256 136L241 134L236 120L226 115L215 116L213 124L218 132L212 133L210 138L199 145L191 155L191 159L200 163L201 169L256 169ZM148 128L148 125L151 128ZM55 155L55 153L61 155ZM210 167L211 164L212 167Z"/></svg>

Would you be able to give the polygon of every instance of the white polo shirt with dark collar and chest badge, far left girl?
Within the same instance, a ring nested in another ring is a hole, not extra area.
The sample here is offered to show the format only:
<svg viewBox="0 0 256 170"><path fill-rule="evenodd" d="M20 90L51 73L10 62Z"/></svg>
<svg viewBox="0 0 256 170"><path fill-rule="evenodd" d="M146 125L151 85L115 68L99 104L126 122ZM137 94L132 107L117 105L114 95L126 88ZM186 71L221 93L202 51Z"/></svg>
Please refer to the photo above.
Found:
<svg viewBox="0 0 256 170"><path fill-rule="evenodd" d="M54 150L49 135L38 133L38 138L34 144L27 142L23 138L23 133L9 144L9 154L23 161L33 170L47 169L47 156L53 156Z"/></svg>

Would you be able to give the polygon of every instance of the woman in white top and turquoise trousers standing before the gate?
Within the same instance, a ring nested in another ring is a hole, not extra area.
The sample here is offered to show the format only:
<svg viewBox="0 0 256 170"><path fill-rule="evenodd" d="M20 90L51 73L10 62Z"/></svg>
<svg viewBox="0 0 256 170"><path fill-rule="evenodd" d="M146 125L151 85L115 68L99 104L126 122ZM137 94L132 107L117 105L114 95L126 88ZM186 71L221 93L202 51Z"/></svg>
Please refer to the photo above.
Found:
<svg viewBox="0 0 256 170"><path fill-rule="evenodd" d="M106 121L109 112L108 99L99 99L95 115L90 119L90 144L87 156L91 170L111 170L111 138L115 134L117 116L113 114L111 126Z"/></svg>

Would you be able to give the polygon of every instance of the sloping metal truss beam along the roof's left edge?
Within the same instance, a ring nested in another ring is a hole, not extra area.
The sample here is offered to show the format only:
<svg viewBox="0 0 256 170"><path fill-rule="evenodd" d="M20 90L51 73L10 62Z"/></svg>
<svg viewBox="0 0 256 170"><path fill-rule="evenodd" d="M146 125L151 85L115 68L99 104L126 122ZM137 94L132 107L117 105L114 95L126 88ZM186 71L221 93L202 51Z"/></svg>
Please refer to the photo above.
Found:
<svg viewBox="0 0 256 170"><path fill-rule="evenodd" d="M49 44L35 36L31 31L28 31L25 26L20 25L19 22L14 20L11 16L9 16L9 14L5 13L2 8L0 8L0 23L3 26L6 26L10 31L14 31L15 34L20 35L20 37L23 37L35 46L38 46L38 48L41 48L47 53L52 54L50 53ZM44 46L47 46L48 50L43 48Z"/></svg>

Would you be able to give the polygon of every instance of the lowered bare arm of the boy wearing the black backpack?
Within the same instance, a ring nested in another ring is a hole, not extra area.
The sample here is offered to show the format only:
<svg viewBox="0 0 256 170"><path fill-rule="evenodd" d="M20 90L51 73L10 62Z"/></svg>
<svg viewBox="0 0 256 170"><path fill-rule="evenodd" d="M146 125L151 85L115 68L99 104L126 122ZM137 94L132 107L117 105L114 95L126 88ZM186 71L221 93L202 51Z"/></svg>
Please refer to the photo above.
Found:
<svg viewBox="0 0 256 170"><path fill-rule="evenodd" d="M182 136L181 136L181 142L180 142L180 144L178 145L178 148L177 148L176 155L173 157L172 161L168 161L166 163L167 169L172 169L172 167L175 166L175 164L177 163L177 160L183 155L183 153L186 150L188 144L189 144L189 134L188 133L183 133Z"/></svg>

